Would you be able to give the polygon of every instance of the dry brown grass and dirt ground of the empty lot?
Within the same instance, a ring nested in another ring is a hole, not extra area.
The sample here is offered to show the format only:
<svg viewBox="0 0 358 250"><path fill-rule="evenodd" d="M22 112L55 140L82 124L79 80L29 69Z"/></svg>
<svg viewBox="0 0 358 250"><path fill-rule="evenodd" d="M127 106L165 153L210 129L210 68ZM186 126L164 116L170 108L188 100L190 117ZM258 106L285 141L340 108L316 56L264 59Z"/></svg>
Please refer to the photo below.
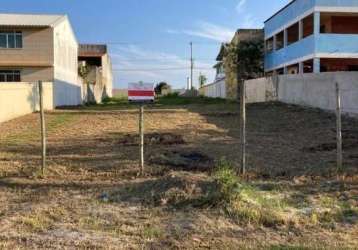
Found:
<svg viewBox="0 0 358 250"><path fill-rule="evenodd" d="M358 121L344 119L337 180L334 115L249 106L242 195L257 219L207 202L217 162L240 160L223 107L148 108L145 177L136 110L48 113L45 177L38 114L0 124L0 249L357 249Z"/></svg>

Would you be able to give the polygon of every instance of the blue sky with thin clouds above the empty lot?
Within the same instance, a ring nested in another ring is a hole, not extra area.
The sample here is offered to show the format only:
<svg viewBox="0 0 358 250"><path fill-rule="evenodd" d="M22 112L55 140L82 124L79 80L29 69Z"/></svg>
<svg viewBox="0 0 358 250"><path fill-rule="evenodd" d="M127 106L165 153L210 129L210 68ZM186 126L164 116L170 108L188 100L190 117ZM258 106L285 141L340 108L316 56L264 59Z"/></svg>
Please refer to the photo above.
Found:
<svg viewBox="0 0 358 250"><path fill-rule="evenodd" d="M81 43L108 43L115 87L167 81L185 87L189 42L197 85L214 78L220 43L238 28L261 28L289 0L1 0L0 11L67 14Z"/></svg>

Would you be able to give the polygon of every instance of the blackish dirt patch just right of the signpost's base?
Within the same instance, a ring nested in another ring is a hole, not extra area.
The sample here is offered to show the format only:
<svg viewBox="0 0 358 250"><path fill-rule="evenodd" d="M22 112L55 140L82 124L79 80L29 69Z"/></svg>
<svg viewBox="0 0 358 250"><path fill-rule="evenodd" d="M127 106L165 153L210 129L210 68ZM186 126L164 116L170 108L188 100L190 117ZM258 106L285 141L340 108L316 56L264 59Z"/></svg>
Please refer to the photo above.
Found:
<svg viewBox="0 0 358 250"><path fill-rule="evenodd" d="M153 156L150 162L184 171L205 172L213 167L211 157L196 151L168 151Z"/></svg>

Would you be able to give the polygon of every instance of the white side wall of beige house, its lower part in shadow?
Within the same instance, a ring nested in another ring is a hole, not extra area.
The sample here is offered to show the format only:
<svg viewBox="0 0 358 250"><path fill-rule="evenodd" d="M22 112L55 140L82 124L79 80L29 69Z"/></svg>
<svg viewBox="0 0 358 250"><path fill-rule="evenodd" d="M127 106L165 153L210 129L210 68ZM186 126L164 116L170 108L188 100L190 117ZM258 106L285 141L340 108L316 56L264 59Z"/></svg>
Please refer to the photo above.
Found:
<svg viewBox="0 0 358 250"><path fill-rule="evenodd" d="M82 104L82 84L78 81L78 43L68 19L54 28L55 106Z"/></svg>

